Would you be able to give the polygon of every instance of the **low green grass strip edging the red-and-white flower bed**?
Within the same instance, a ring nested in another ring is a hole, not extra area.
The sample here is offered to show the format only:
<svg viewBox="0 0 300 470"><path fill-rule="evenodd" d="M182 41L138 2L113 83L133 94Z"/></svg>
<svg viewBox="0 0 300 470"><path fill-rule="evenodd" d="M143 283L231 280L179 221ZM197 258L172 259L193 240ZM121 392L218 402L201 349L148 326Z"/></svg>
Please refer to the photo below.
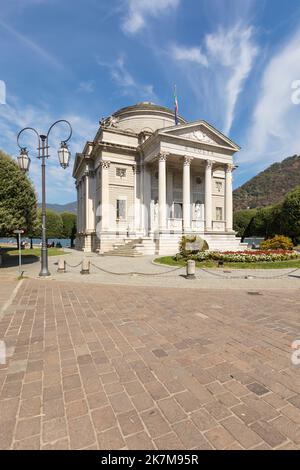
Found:
<svg viewBox="0 0 300 470"><path fill-rule="evenodd" d="M163 256L161 258L156 258L155 263L164 264L167 266L185 266L186 263L183 260L176 261L172 256ZM197 261L197 268L218 268L217 261ZM224 263L224 265L219 269L283 269L291 268L296 269L300 268L300 258L289 260L289 261L265 261L260 263Z"/></svg>

